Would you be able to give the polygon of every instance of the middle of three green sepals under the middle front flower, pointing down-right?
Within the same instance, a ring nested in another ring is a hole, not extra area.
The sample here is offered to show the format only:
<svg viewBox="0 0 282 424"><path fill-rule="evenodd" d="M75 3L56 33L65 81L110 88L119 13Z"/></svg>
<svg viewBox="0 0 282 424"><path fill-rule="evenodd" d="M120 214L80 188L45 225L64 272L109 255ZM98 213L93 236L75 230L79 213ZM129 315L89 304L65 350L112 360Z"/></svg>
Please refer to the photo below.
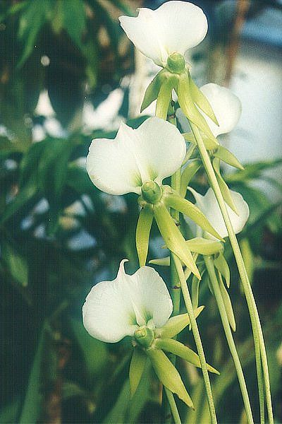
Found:
<svg viewBox="0 0 282 424"><path fill-rule="evenodd" d="M185 239L181 232L176 227L176 224L171 218L166 206L162 202L154 206L154 218L159 227L159 231L164 238L164 242L171 252L175 253L178 258L183 261L198 278L201 278L199 270L195 264L192 254L185 244Z"/></svg>

